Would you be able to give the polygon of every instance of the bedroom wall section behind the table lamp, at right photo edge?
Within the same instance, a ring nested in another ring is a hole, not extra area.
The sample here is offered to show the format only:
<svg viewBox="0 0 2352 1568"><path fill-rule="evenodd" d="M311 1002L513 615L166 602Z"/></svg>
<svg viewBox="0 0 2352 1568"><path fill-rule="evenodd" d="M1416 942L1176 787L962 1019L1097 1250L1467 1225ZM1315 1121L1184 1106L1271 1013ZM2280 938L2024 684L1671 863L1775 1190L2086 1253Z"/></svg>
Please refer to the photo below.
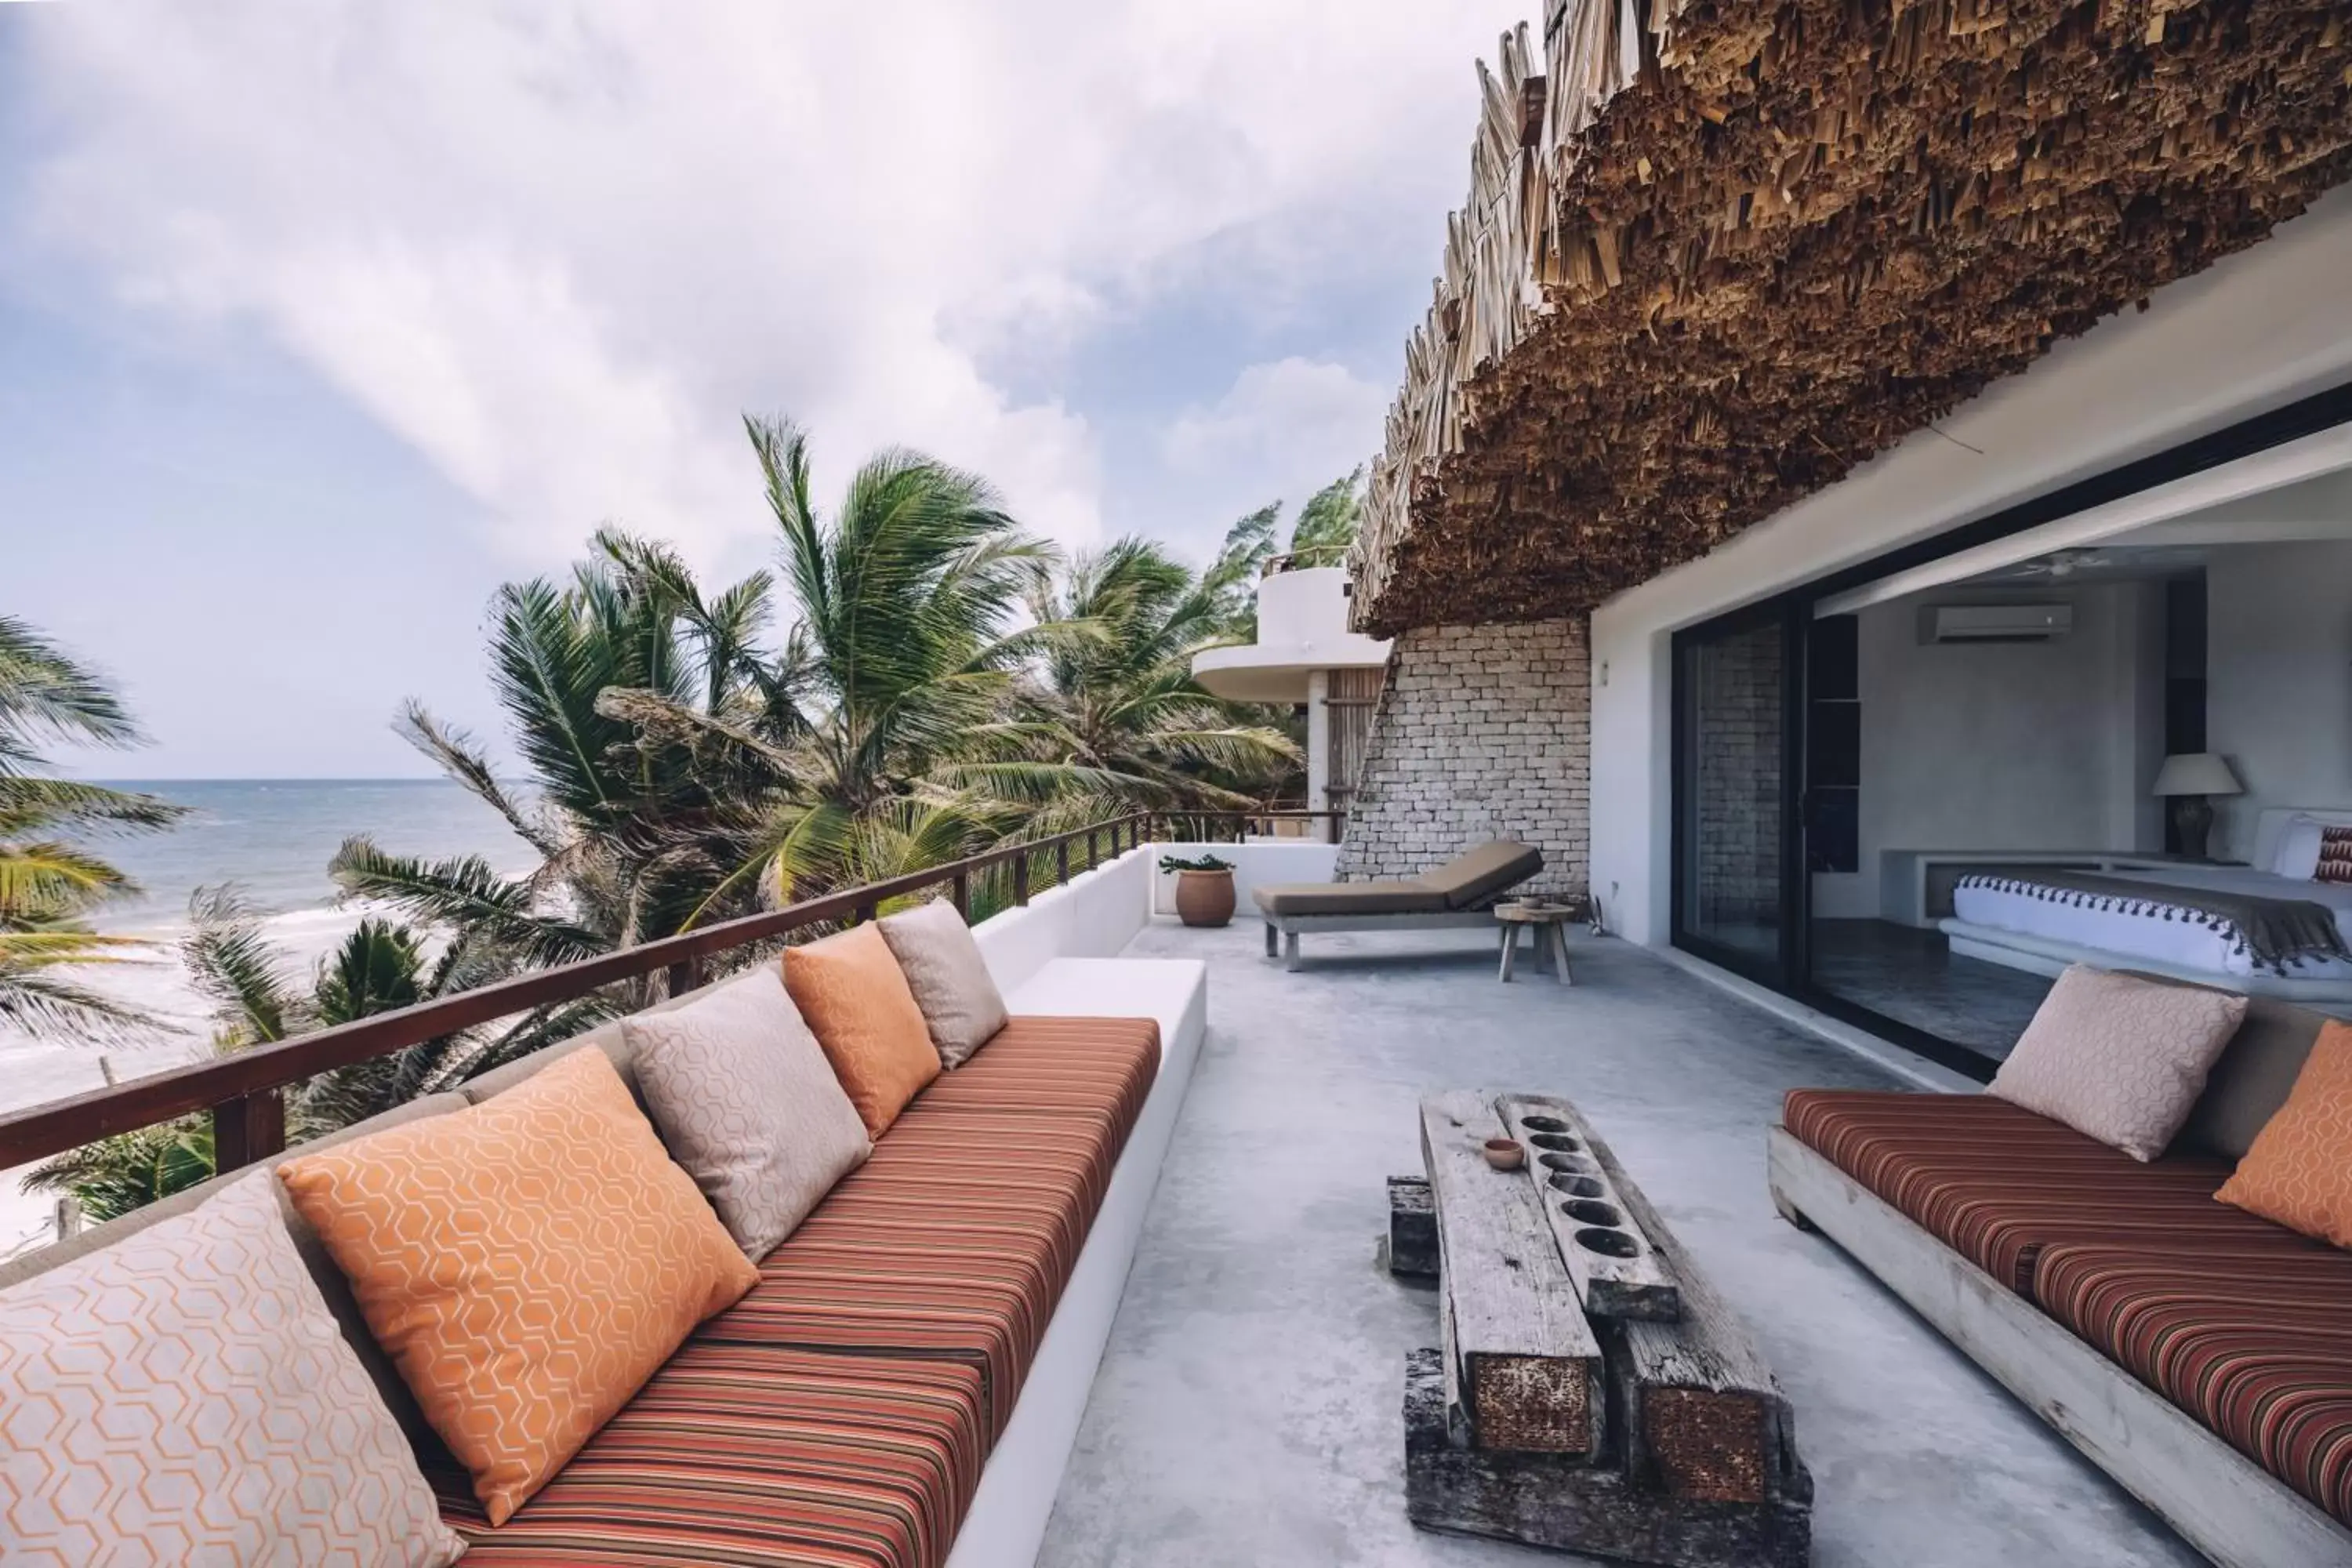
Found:
<svg viewBox="0 0 2352 1568"><path fill-rule="evenodd" d="M2216 856L2249 858L2263 809L2352 806L2352 543L2213 555L2206 745L2246 785L2216 802Z"/></svg>

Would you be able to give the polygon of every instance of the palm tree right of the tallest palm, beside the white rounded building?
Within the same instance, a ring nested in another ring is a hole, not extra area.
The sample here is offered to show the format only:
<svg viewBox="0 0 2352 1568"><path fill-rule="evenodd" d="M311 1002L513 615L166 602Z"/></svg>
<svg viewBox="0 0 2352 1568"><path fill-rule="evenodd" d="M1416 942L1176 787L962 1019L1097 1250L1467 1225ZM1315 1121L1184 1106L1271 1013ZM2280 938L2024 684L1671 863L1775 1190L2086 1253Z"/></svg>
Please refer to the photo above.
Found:
<svg viewBox="0 0 2352 1568"><path fill-rule="evenodd" d="M1192 679L1192 656L1228 642L1221 588L1214 571L1195 578L1143 538L1077 557L1030 599L1040 625L1073 635L1042 649L1011 719L983 731L1011 741L1018 759L948 773L1051 802L1047 827L1110 809L1237 809L1275 795L1298 745Z"/></svg>

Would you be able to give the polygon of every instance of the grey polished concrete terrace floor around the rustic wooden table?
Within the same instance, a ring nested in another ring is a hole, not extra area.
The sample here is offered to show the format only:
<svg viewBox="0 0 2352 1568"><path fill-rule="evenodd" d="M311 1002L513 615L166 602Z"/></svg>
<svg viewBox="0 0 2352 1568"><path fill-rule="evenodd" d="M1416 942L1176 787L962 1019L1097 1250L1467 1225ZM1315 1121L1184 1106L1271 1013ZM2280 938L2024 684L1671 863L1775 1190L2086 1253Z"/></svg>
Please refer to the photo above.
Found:
<svg viewBox="0 0 2352 1568"><path fill-rule="evenodd" d="M1404 1519L1404 1352L1435 1293L1374 1262L1416 1100L1571 1095L1733 1300L1797 1413L1818 1568L2199 1563L1832 1244L1773 1215L1762 1128L1867 1063L1616 940L1573 990L1498 985L1491 938L1145 931L1207 957L1209 1041L1152 1199L1042 1568L1562 1563Z"/></svg>

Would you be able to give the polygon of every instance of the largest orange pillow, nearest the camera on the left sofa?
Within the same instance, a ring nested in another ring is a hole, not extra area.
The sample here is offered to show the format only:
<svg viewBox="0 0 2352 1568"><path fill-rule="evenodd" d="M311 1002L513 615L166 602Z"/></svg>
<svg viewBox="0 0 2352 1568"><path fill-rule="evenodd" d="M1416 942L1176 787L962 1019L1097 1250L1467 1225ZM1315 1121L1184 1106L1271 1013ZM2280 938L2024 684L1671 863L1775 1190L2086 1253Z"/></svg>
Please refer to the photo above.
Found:
<svg viewBox="0 0 2352 1568"><path fill-rule="evenodd" d="M278 1178L494 1526L760 1279L593 1048Z"/></svg>

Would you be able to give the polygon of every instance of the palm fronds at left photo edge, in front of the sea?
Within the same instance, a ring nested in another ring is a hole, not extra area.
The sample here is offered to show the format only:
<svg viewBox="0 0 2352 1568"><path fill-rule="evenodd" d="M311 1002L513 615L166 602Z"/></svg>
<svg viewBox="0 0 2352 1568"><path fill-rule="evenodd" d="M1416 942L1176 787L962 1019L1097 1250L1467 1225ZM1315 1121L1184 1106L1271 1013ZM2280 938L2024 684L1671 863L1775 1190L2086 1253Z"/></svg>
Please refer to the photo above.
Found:
<svg viewBox="0 0 2352 1568"><path fill-rule="evenodd" d="M87 914L134 891L73 839L146 832L181 818L153 795L45 778L45 741L139 743L122 701L87 665L14 616L0 616L0 1023L111 1039L151 1020L71 978L125 961L139 943L92 931Z"/></svg>

